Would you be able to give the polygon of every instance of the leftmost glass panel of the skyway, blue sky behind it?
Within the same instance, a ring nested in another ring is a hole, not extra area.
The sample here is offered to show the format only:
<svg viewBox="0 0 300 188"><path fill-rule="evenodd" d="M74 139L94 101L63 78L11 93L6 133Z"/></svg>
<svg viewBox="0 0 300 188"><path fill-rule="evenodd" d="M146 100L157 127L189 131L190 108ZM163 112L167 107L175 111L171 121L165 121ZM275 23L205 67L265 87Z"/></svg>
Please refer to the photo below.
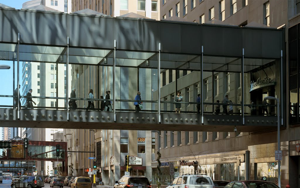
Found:
<svg viewBox="0 0 300 188"><path fill-rule="evenodd" d="M5 80L1 83L2 89L0 92L0 107L1 108L16 108L18 104L17 98L17 45L0 43L0 79ZM20 73L22 72L22 62L19 66ZM24 80L27 78L24 76ZM22 74L20 74L20 96L22 95ZM9 97L10 96L10 97ZM19 103L20 104L20 103ZM20 106L21 107L21 106Z"/></svg>

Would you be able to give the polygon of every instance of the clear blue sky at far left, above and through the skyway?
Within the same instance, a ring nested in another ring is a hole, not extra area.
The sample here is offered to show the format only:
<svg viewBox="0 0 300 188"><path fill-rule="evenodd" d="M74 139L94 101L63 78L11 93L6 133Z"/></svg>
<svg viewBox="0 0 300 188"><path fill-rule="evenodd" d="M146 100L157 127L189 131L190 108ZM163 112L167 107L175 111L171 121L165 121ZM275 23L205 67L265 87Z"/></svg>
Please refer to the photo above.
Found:
<svg viewBox="0 0 300 188"><path fill-rule="evenodd" d="M28 0L0 0L0 3L16 8L16 9L21 9L22 4L27 2ZM9 70L1 70L0 69L0 80L1 80L1 90L0 94L1 95L12 95L13 94L13 62L12 61L1 61L0 60L0 65L9 65L10 69ZM17 63L15 63L16 66ZM17 67L15 67L16 70ZM20 62L20 73L22 73L22 62ZM22 83L21 80L21 75L20 74L20 83ZM15 88L16 88L16 71L15 71ZM22 84L21 84L22 85ZM21 93L22 94L22 93ZM0 105L12 105L13 104L13 99L12 98L5 98L5 97L0 97Z"/></svg>

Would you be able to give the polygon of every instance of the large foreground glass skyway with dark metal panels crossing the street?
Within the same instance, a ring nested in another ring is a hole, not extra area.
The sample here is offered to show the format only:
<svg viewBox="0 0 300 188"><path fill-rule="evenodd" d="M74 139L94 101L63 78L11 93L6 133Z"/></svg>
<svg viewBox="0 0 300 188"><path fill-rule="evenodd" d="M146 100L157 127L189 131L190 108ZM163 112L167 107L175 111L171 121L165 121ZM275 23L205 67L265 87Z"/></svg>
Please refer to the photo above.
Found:
<svg viewBox="0 0 300 188"><path fill-rule="evenodd" d="M0 64L11 67L0 70L1 126L256 132L275 130L277 116L286 126L284 29L10 8L0 19ZM29 89L36 105L26 103ZM106 100L110 112L101 111Z"/></svg>

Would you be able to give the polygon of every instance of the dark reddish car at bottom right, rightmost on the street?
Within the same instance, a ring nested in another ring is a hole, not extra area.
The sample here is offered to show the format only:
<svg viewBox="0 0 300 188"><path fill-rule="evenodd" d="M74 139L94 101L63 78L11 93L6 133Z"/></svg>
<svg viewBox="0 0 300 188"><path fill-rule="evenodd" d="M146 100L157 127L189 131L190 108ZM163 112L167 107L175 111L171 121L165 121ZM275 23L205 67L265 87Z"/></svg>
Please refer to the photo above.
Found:
<svg viewBox="0 0 300 188"><path fill-rule="evenodd" d="M232 181L228 183L224 188L279 188L275 183L269 181L257 181L257 180L242 180L242 181Z"/></svg>

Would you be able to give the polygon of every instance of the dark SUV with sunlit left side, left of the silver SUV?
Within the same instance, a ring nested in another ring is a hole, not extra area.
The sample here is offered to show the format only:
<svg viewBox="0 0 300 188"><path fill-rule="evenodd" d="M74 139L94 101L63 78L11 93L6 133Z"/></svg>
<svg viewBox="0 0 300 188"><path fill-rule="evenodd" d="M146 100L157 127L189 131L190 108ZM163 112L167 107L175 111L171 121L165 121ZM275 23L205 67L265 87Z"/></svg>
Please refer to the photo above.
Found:
<svg viewBox="0 0 300 188"><path fill-rule="evenodd" d="M145 176L123 176L116 181L114 188L125 188L128 185L132 188L151 188L151 184Z"/></svg>

